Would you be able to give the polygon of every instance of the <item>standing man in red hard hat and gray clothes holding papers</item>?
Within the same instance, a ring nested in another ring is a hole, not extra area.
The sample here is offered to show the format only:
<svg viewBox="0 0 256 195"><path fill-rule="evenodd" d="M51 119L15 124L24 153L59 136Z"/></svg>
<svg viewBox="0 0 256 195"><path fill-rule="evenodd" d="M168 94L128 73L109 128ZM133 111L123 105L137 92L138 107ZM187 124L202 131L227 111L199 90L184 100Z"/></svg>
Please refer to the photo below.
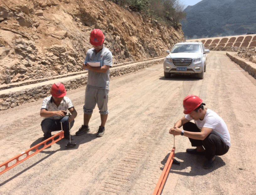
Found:
<svg viewBox="0 0 256 195"><path fill-rule="evenodd" d="M90 132L88 124L96 104L98 105L101 119L96 135L97 137L102 137L105 132L105 124L109 113L109 67L112 66L112 53L104 47L104 39L105 36L100 29L92 30L90 43L93 48L87 51L83 64L83 69L88 70L83 106L83 125L76 132L76 135Z"/></svg>

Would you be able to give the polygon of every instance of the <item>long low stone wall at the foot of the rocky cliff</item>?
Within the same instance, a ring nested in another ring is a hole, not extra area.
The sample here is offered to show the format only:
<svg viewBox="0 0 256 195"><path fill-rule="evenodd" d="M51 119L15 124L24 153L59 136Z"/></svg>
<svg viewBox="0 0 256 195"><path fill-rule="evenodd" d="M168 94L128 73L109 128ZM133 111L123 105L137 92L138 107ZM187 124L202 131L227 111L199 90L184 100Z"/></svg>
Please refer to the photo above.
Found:
<svg viewBox="0 0 256 195"><path fill-rule="evenodd" d="M154 64L162 63L164 57L153 58L147 61L127 62L113 65L110 68L110 78L136 72ZM66 75L36 79L27 82L13 83L0 86L0 110L14 108L23 103L34 102L50 95L51 85L62 82L66 90L84 87L87 84L87 71L80 71Z"/></svg>

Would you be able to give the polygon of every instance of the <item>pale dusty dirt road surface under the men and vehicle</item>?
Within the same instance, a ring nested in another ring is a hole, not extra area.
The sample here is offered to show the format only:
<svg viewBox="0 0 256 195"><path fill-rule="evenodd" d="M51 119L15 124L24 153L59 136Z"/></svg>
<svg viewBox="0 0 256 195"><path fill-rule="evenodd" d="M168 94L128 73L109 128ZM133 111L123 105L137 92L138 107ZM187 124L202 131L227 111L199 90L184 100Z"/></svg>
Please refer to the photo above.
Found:
<svg viewBox="0 0 256 195"><path fill-rule="evenodd" d="M206 108L227 123L231 148L216 157L210 170L202 156L187 154L188 138L175 137L175 159L163 195L256 194L255 79L225 52L211 51L203 80L163 77L163 65L110 81L109 118L103 137L95 108L91 132L75 136L76 147L60 140L0 176L1 195L148 195L152 194L173 147L168 130L183 117L182 101L200 96ZM78 116L71 133L83 124L85 87L68 91ZM0 163L40 143L42 101L0 111ZM57 133L57 132L56 132Z"/></svg>

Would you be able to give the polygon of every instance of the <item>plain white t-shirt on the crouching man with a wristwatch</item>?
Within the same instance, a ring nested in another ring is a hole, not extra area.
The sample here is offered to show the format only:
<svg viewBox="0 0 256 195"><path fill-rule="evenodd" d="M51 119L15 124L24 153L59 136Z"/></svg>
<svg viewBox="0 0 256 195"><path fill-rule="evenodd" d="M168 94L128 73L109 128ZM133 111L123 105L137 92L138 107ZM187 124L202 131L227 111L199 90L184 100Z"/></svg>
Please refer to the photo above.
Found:
<svg viewBox="0 0 256 195"><path fill-rule="evenodd" d="M189 114L185 115L185 118L189 121L192 120ZM194 121L198 129L201 130L203 127L212 129L212 131L219 135L228 146L231 146L227 125L216 112L207 108L204 119Z"/></svg>

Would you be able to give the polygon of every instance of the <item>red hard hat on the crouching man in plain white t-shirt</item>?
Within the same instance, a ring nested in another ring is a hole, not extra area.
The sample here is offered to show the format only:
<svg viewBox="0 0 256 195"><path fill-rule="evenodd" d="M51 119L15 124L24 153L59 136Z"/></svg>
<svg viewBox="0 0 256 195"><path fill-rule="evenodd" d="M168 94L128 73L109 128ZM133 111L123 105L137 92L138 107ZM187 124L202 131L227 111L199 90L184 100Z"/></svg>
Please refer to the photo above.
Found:
<svg viewBox="0 0 256 195"><path fill-rule="evenodd" d="M183 108L184 108L183 113L184 114L191 113L198 106L200 106L202 102L203 102L203 100L200 97L195 96L195 95L188 95L183 100Z"/></svg>

